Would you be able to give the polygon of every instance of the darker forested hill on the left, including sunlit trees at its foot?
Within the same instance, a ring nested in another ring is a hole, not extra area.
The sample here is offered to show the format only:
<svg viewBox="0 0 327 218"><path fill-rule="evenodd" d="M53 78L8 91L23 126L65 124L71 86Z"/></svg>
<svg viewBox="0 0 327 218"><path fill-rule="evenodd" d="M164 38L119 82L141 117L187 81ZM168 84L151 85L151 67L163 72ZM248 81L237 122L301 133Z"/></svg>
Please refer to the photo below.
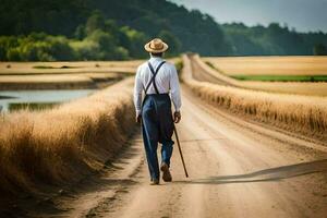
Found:
<svg viewBox="0 0 327 218"><path fill-rule="evenodd" d="M166 0L0 0L0 36L10 36L1 37L1 60L144 58L143 46L153 37L169 44L170 56L229 52L210 16ZM55 52L53 44L70 58Z"/></svg>

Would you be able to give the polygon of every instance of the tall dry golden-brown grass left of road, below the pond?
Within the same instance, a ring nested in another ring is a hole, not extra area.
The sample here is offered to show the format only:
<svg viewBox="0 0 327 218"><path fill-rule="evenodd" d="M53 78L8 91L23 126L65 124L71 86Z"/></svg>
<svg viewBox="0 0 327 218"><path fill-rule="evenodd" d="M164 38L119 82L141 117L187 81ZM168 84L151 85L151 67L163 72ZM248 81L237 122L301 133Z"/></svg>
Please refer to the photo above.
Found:
<svg viewBox="0 0 327 218"><path fill-rule="evenodd" d="M101 168L134 126L132 84L128 78L52 110L5 114L0 193L33 191L38 182L70 183Z"/></svg>

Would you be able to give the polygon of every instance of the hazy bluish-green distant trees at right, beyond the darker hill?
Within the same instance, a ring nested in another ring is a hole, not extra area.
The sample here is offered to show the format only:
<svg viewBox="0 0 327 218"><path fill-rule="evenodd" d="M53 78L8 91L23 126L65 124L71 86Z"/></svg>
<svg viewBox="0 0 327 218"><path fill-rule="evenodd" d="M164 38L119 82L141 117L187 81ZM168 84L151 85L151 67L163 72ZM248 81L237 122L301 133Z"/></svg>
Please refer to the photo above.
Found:
<svg viewBox="0 0 327 218"><path fill-rule="evenodd" d="M243 23L221 25L235 56L327 55L327 34L296 33L271 23L247 27Z"/></svg>

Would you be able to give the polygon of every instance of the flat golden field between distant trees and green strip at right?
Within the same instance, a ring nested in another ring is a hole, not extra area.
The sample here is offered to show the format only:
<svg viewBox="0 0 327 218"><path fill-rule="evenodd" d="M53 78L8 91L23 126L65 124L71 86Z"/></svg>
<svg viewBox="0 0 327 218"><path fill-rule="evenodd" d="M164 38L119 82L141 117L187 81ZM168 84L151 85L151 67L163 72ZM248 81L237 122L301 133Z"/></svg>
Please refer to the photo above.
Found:
<svg viewBox="0 0 327 218"><path fill-rule="evenodd" d="M203 58L227 75L327 75L327 57Z"/></svg>

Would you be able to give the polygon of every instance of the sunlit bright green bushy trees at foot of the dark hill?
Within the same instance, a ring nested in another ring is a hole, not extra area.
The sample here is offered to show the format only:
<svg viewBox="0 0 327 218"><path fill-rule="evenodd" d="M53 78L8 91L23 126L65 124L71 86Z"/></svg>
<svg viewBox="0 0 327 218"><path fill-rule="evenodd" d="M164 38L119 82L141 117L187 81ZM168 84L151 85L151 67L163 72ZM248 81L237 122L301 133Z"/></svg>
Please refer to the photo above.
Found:
<svg viewBox="0 0 327 218"><path fill-rule="evenodd" d="M160 32L160 37L173 44L174 37ZM0 36L0 60L4 61L73 61L125 60L144 58L142 47L148 40L144 33L118 26L96 11L85 24L78 25L73 38L31 33L27 36ZM172 49L170 55L175 55Z"/></svg>

